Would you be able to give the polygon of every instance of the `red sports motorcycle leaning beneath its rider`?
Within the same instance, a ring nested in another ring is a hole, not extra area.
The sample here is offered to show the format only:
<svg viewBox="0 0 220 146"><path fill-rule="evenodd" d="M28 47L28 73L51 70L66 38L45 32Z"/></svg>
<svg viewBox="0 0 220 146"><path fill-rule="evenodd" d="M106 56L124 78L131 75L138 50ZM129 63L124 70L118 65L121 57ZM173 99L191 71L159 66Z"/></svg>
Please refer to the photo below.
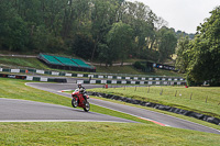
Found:
<svg viewBox="0 0 220 146"><path fill-rule="evenodd" d="M82 93L80 93L80 91L78 89L76 89L73 93L72 93L72 105L74 108L80 106L84 109L85 112L88 112L90 110L90 104L88 101L86 101L84 99ZM87 99L89 99L89 96L86 96Z"/></svg>

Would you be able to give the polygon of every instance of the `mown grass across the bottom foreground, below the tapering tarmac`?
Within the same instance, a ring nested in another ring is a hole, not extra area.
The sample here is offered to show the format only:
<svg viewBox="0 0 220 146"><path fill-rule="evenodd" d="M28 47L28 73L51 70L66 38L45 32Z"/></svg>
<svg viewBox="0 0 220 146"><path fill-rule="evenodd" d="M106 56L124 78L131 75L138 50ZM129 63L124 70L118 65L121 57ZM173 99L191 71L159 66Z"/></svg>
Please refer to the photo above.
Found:
<svg viewBox="0 0 220 146"><path fill-rule="evenodd" d="M0 123L0 145L217 146L220 136L125 123Z"/></svg>

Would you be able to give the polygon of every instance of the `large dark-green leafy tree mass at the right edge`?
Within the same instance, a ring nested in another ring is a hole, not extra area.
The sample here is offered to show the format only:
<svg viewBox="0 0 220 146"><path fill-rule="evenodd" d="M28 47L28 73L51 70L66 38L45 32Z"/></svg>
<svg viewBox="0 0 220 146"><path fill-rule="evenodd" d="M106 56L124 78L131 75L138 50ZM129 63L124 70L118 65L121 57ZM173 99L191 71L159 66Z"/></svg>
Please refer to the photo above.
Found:
<svg viewBox="0 0 220 146"><path fill-rule="evenodd" d="M177 45L176 67L189 85L220 86L220 7L197 27L194 40L182 37Z"/></svg>

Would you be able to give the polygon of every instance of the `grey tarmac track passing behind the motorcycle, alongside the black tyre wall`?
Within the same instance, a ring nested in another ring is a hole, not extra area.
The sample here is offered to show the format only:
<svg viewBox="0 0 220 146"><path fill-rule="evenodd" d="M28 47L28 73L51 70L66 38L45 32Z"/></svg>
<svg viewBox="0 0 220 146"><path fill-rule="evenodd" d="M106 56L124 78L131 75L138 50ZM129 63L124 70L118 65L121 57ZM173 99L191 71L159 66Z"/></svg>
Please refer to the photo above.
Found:
<svg viewBox="0 0 220 146"><path fill-rule="evenodd" d="M50 92L61 94L61 96L65 96L65 97L69 97L69 98L70 98L69 94L64 93L64 92L57 92L57 91L70 90L70 89L76 88L76 83L38 83L38 82L36 82L36 83L26 83L26 85L30 86L30 87L34 87L34 88L37 88L37 89L42 89L42 90L45 90L45 91L50 91ZM84 85L84 86L86 87L86 89L101 88L102 87L102 86L99 86L99 85ZM105 106L105 108L108 108L108 109L112 109L112 110L116 110L116 111L120 111L120 112L123 112L123 113L135 115L138 117L156 121L156 122L160 122L162 124L165 124L165 125L168 125L168 126L172 126L172 127L195 130L195 131L200 131L200 132L220 134L220 132L218 130L215 130L215 128L211 128L211 127L207 127L207 126L196 124L196 123L193 123L193 122L189 122L189 121L185 121L185 120L177 119L177 117L174 117L174 116L170 116L170 115L166 115L166 114L162 114L162 113L157 113L157 112L140 109L140 108L133 108L133 106L129 106L129 105L124 105L124 104L118 104L118 103L108 102L108 101L103 101L103 100L97 100L97 99L89 99L89 102L91 104Z"/></svg>

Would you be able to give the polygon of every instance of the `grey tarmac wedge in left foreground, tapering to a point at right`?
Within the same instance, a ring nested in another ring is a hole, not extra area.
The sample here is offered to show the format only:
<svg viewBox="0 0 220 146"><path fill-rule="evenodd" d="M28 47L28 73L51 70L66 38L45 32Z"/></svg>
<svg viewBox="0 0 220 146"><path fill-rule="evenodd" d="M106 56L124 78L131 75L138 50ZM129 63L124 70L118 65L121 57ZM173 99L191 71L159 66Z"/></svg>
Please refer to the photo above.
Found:
<svg viewBox="0 0 220 146"><path fill-rule="evenodd" d="M84 110L41 103L34 101L1 99L0 122L50 122L50 121L98 121L98 122L132 122L105 114L84 112Z"/></svg>

